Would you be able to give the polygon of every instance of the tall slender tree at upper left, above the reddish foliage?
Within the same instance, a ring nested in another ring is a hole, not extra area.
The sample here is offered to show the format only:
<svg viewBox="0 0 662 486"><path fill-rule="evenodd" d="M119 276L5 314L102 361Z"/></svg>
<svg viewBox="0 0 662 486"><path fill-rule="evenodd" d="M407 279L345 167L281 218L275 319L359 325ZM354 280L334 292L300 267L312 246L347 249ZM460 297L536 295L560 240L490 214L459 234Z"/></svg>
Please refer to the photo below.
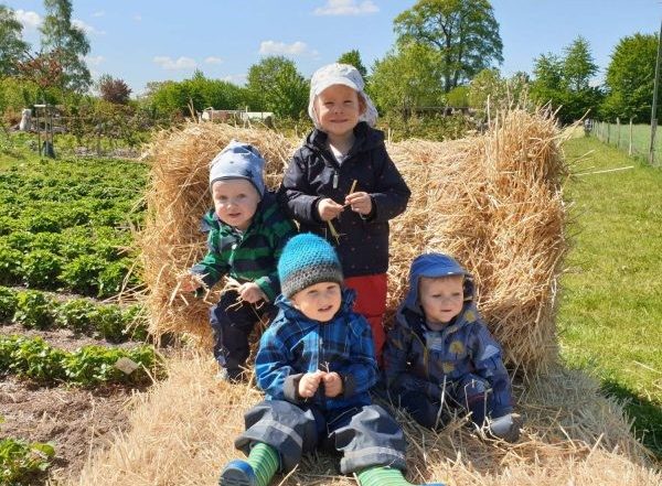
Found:
<svg viewBox="0 0 662 486"><path fill-rule="evenodd" d="M63 88L85 91L92 76L85 64L89 42L82 29L72 24L71 0L44 0L46 15L41 26L42 48L56 52L63 68Z"/></svg>

